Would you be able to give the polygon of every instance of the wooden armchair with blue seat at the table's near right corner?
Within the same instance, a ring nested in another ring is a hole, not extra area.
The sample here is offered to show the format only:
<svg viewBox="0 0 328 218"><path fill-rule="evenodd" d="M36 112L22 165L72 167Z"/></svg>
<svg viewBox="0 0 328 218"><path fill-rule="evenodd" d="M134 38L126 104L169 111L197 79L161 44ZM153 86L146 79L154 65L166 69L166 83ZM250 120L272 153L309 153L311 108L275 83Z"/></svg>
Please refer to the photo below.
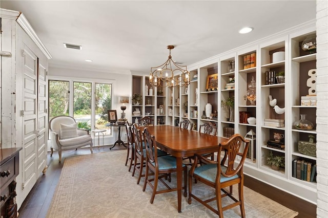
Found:
<svg viewBox="0 0 328 218"><path fill-rule="evenodd" d="M250 145L249 140L245 140L240 134L235 134L218 146L218 154L221 150L226 151L225 157L222 161L212 161L201 155L195 155L195 161L189 171L189 198L188 203L191 204L191 198L194 198L202 205L206 206L219 217L223 217L223 211L232 207L240 207L241 217L245 217L245 208L243 201L243 164L247 156L247 151ZM239 163L235 163L237 157L240 157ZM206 164L197 167L197 162L200 160ZM192 192L192 179L202 182L208 186L215 188L215 197L206 199L204 196L199 196ZM232 185L238 184L238 200L232 195ZM230 187L227 191L226 187ZM221 191L223 194L221 194ZM197 196L197 195L198 196ZM230 197L234 203L222 207L222 198ZM217 209L209 204L209 202L216 201Z"/></svg>

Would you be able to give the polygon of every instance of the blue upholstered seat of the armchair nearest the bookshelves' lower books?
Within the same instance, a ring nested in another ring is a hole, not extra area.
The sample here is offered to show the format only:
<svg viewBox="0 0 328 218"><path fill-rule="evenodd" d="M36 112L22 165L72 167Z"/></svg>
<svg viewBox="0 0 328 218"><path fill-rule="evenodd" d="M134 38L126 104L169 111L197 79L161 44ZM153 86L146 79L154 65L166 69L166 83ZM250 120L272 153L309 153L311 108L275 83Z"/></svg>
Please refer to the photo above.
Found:
<svg viewBox="0 0 328 218"><path fill-rule="evenodd" d="M221 166L221 170L225 172L227 170L227 167ZM205 164L201 165L199 167L195 168L194 175L197 175L203 179L209 180L213 183L215 183L216 179L216 173L217 173L217 164ZM237 179L238 175L235 175L233 177L224 177L221 175L220 182L227 182L229 180Z"/></svg>

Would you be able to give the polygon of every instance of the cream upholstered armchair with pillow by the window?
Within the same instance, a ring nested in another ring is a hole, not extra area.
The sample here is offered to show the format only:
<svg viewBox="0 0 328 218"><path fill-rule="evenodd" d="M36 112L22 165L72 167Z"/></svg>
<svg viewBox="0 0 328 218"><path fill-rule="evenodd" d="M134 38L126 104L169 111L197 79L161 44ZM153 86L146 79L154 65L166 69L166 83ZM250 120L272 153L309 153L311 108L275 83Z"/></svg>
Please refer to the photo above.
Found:
<svg viewBox="0 0 328 218"><path fill-rule="evenodd" d="M77 122L70 116L57 116L49 122L49 132L51 140L51 155L53 149L58 150L59 162L61 162L61 151L77 149L90 145L93 152L91 135L85 129L78 129Z"/></svg>

